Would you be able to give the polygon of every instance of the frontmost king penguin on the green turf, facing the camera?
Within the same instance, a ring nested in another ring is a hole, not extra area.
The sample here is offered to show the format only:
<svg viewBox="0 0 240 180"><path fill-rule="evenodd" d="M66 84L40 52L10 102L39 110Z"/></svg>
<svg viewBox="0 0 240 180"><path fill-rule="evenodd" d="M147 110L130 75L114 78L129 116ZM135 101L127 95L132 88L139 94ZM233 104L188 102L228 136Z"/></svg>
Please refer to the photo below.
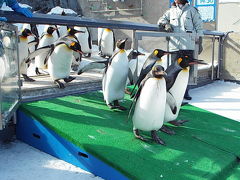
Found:
<svg viewBox="0 0 240 180"><path fill-rule="evenodd" d="M136 138L145 141L139 130L151 131L153 140L164 145L157 131L162 127L166 104L166 81L165 72L161 65L155 65L141 82L134 96L135 109L132 117L133 132ZM134 105L131 105L131 110Z"/></svg>

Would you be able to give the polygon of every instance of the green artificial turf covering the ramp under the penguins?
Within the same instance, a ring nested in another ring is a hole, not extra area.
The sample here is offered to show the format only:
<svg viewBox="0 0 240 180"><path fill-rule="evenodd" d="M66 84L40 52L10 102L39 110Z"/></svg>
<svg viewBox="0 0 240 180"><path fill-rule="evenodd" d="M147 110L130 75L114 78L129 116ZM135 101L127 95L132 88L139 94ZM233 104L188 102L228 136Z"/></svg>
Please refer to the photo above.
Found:
<svg viewBox="0 0 240 180"><path fill-rule="evenodd" d="M130 103L126 96L122 104ZM110 110L101 92L26 103L21 110L129 179L240 176L240 123L191 105L182 107L178 118L189 122L171 126L176 135L158 133L166 146L135 139L128 112Z"/></svg>

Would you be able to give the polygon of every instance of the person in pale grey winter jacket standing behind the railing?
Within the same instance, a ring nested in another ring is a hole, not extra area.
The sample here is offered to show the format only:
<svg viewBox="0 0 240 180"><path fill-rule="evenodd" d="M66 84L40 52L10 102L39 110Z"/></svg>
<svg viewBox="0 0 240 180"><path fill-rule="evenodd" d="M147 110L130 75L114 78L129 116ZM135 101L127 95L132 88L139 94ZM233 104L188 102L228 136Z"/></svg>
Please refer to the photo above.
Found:
<svg viewBox="0 0 240 180"><path fill-rule="evenodd" d="M198 10L188 3L188 0L175 0L172 6L167 10L158 23L160 30L175 33L198 33L198 42L195 37L170 37L169 50L178 51L181 54L194 58L195 43L199 44L199 54L202 52L203 24ZM179 57L179 54L171 55L172 62ZM191 100L192 97L186 89L184 99Z"/></svg>

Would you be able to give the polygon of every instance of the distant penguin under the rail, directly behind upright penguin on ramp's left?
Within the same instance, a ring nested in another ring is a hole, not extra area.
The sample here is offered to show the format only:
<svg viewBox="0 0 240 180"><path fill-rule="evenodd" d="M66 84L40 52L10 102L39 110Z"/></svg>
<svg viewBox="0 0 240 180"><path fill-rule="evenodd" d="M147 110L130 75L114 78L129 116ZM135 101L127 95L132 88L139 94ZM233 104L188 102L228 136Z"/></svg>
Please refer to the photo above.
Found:
<svg viewBox="0 0 240 180"><path fill-rule="evenodd" d="M101 57L111 57L115 50L115 36L111 29L105 28L99 41L99 54Z"/></svg>

